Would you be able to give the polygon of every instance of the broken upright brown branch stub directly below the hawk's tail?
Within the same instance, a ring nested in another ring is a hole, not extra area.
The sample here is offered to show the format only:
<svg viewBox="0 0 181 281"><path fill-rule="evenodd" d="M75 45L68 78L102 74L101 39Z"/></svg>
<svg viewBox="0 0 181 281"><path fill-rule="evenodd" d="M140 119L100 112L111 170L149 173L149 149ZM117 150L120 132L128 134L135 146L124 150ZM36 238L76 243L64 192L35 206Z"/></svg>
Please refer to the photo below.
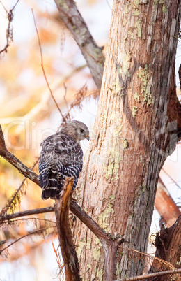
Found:
<svg viewBox="0 0 181 281"><path fill-rule="evenodd" d="M68 218L73 184L74 178L66 178L65 184L63 185L63 188L61 190L60 199L56 200L56 203L54 204L58 239L61 246L61 254L65 264L66 281L81 280L79 274L79 262L77 253L74 248Z"/></svg>

